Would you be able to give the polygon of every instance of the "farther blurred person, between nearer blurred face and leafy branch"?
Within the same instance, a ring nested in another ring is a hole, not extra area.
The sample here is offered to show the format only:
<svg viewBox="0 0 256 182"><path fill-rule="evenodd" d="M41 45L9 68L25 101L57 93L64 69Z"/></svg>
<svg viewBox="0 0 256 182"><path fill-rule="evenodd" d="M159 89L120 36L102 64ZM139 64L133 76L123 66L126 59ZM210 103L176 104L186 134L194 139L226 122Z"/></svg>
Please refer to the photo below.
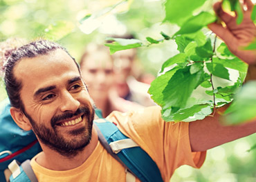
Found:
<svg viewBox="0 0 256 182"><path fill-rule="evenodd" d="M121 37L111 37L134 39L131 34L123 35ZM138 69L136 69L136 65L134 64L136 60L136 49L115 52L113 54L113 59L115 87L119 97L122 97L127 101L134 101L144 106L155 105L154 101L150 99L150 96L147 93L150 81L143 83L136 79L135 75L138 74Z"/></svg>

